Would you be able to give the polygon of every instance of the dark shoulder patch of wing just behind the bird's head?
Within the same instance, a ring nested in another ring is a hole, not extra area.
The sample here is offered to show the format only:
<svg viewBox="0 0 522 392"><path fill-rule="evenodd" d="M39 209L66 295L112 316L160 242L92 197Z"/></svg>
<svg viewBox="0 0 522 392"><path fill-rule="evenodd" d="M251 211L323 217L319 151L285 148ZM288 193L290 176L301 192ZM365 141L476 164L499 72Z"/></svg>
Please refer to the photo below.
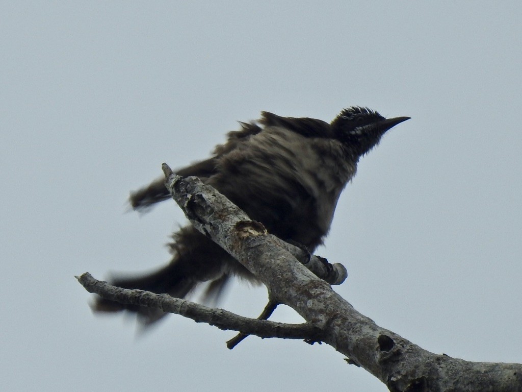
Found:
<svg viewBox="0 0 522 392"><path fill-rule="evenodd" d="M270 112L261 112L259 123L265 126L279 126L306 137L334 137L327 122L307 117L281 117Z"/></svg>

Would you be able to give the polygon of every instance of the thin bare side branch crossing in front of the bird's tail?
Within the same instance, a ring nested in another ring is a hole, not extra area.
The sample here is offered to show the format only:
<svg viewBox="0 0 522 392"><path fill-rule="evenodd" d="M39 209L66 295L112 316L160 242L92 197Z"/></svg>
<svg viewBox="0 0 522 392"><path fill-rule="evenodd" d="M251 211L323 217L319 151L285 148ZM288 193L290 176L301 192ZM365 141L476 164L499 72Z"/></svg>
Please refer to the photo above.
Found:
<svg viewBox="0 0 522 392"><path fill-rule="evenodd" d="M88 272L76 276L78 282L89 293L125 304L147 306L178 314L196 322L206 322L222 330L234 330L260 338L284 338L320 340L318 328L308 324L286 324L236 315L228 310L209 308L186 299L174 298L168 294L155 294L143 290L128 290L96 280Z"/></svg>

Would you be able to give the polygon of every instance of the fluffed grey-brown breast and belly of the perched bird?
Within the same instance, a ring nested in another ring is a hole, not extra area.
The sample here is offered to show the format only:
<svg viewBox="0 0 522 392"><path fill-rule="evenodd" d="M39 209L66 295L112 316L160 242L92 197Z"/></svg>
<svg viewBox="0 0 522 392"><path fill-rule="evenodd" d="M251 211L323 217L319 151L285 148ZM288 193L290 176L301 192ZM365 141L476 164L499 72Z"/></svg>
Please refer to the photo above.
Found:
<svg viewBox="0 0 522 392"><path fill-rule="evenodd" d="M315 247L354 172L340 142L267 127L221 157L209 183L272 234Z"/></svg>

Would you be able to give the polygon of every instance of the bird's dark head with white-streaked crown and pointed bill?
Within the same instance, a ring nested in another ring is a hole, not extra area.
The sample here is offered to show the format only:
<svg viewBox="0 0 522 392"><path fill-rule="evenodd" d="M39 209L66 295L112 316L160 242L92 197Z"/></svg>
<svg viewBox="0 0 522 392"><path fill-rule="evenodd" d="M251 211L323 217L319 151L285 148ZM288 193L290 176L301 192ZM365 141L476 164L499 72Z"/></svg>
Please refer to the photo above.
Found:
<svg viewBox="0 0 522 392"><path fill-rule="evenodd" d="M354 106L341 111L331 122L331 127L335 137L354 155L360 157L376 146L387 130L408 119L410 118L385 119L376 111Z"/></svg>

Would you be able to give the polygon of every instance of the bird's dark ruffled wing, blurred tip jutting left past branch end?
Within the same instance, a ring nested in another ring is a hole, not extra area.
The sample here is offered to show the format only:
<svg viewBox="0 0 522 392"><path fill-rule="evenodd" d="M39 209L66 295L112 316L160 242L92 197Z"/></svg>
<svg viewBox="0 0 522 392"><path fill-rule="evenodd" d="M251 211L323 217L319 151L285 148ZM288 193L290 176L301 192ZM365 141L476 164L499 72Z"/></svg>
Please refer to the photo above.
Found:
<svg viewBox="0 0 522 392"><path fill-rule="evenodd" d="M182 177L195 176L206 179L216 173L216 165L219 158L230 153L250 136L261 132L263 129L254 123L240 122L241 129L228 133L228 140L224 144L216 146L213 155L205 160L200 160L190 166L174 170ZM134 210L146 211L153 204L170 199L170 193L165 188L165 178L161 177L152 181L148 186L135 192L131 192L129 203Z"/></svg>

